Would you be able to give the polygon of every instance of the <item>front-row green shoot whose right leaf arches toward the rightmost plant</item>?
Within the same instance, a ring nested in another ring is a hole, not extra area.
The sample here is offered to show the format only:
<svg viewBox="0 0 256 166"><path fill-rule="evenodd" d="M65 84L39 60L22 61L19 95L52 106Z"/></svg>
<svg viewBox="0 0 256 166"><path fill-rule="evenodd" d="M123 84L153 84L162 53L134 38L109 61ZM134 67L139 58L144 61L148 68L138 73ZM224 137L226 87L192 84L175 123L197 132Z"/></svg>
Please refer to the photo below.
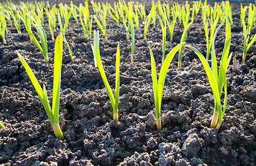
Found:
<svg viewBox="0 0 256 166"><path fill-rule="evenodd" d="M172 59L176 52L184 46L185 43L179 44L178 46L172 48L170 53L166 56L159 73L159 77L157 80L156 75L156 63L154 60L154 55L152 53L151 48L149 48L149 52L151 55L151 67L152 67L152 82L153 82L153 91L154 91L154 100L155 100L155 107L156 107L156 128L161 130L162 122L161 122L161 102L163 97L163 84L165 83L165 77L167 74L167 70L172 62Z"/></svg>

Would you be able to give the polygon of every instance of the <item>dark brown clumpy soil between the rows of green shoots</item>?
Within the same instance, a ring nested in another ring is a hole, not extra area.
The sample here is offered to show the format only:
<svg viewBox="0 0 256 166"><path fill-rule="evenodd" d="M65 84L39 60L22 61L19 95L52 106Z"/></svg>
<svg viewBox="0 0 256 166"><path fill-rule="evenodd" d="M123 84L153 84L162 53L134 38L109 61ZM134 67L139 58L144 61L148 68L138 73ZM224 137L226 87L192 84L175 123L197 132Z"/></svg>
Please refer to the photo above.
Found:
<svg viewBox="0 0 256 166"><path fill-rule="evenodd" d="M51 5L60 2L65 1L51 1ZM151 1L143 2L149 12ZM140 27L135 30L134 66L131 66L131 40L127 41L122 24L108 17L108 39L104 40L100 32L100 53L112 89L115 88L116 48L120 43L119 121L113 120L107 90L98 68L94 67L93 39L84 37L82 26L72 17L66 39L75 60L71 61L64 44L62 64L60 124L65 140L56 138L15 52L18 50L24 56L39 84L46 84L51 96L55 42L47 19L44 29L50 64L44 62L42 53L29 41L24 24L21 34L13 24L8 24L7 44L0 41L0 120L6 125L0 129L0 165L256 165L256 46L249 49L242 64L240 4L231 5L234 24L230 52L235 58L226 74L228 104L219 130L209 128L214 109L212 90L201 62L188 48L183 51L183 68L176 67L178 56L175 55L167 72L161 107L163 129L156 130L148 47L153 50L159 73L161 26L150 25L146 42L140 20ZM91 5L90 8L92 12ZM186 42L205 55L205 35L199 15L188 30ZM218 60L225 40L224 27L215 42ZM99 29L95 22L93 29ZM174 42L167 35L166 53L179 44L182 33L183 26L178 21ZM254 26L252 34L255 33Z"/></svg>

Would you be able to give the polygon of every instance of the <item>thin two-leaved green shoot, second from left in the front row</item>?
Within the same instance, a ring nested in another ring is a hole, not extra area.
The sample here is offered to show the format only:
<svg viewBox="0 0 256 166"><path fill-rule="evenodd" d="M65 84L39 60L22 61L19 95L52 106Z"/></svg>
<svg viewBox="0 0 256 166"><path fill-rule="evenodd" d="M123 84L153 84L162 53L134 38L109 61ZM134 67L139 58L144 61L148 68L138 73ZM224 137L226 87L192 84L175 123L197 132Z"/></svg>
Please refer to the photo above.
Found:
<svg viewBox="0 0 256 166"><path fill-rule="evenodd" d="M118 48L116 50L116 89L115 89L115 95L116 98L113 96L113 92L111 90L111 87L109 86L109 82L107 81L107 77L104 72L104 68L102 66L102 62L100 59L100 38L99 38L99 31L97 30L96 33L94 33L94 40L93 40L93 55L95 64L97 64L100 75L102 77L102 80L104 82L104 85L107 89L107 93L109 94L109 99L111 101L111 105L113 108L113 120L118 120L118 100L119 100L119 86L120 86L120 50L119 50L119 44Z"/></svg>

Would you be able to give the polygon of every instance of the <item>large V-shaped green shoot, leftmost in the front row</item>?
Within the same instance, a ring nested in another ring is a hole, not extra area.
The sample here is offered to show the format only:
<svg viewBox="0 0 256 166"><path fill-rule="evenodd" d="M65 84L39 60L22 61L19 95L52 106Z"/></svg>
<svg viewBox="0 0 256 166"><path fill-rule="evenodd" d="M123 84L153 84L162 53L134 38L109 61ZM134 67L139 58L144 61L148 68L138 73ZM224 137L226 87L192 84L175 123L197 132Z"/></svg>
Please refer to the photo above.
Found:
<svg viewBox="0 0 256 166"><path fill-rule="evenodd" d="M61 82L61 71L62 71L62 34L58 35L55 41L55 57L54 57L54 72L53 72L53 103L52 108L48 100L48 95L46 93L46 86L41 88L40 84L37 82L37 78L33 74L33 71L28 66L25 59L17 52L19 59L21 60L22 65L28 73L35 91L39 95L40 100L46 110L47 116L55 132L55 136L64 140L62 130L60 129L59 124L59 109L60 109L60 82Z"/></svg>

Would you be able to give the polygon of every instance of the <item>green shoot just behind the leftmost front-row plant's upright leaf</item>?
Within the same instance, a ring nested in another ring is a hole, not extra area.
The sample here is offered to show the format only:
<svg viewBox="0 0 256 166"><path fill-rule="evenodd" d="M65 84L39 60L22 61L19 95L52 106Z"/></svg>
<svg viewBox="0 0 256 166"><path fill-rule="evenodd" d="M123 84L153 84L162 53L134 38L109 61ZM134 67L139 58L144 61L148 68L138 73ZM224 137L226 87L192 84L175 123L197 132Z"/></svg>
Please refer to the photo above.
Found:
<svg viewBox="0 0 256 166"><path fill-rule="evenodd" d="M48 59L48 55L47 55L47 53L48 53L47 37L46 37L46 33L45 33L44 29L41 26L39 26L35 21L33 21L34 25L35 25L35 28L37 29L39 39L40 39L41 44L42 44L42 46L41 46L39 44L39 42L37 41L37 38L35 38L35 35L33 35L33 32L31 30L31 22L30 22L30 15L29 14L26 14L26 16L24 18L24 21L25 21L26 30L27 30L28 34L30 35L31 39L33 39L33 42L35 43L37 48L39 48L39 50L43 54L44 61L49 63L49 59Z"/></svg>

